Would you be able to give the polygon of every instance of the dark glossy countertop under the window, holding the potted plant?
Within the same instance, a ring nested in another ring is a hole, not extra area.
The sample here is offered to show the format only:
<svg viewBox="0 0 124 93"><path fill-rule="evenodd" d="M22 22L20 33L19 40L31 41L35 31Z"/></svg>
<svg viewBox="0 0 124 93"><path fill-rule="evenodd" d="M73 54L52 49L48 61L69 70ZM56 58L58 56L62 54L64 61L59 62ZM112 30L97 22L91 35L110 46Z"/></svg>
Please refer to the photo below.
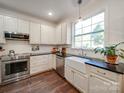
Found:
<svg viewBox="0 0 124 93"><path fill-rule="evenodd" d="M111 72L115 72L115 73L118 73L118 74L124 74L124 63L119 63L117 65L112 65L112 64L109 64L109 63L107 63L103 60L100 60L100 59L98 60L98 59L94 59L94 58L90 58L90 57L82 57L82 56L77 56L77 55L72 55L72 54L68 54L68 55L90 59L90 61L85 62L85 64L88 64L88 65L91 65L91 66L94 66L94 67L98 67L98 68L101 68L101 69L105 69L105 70L108 70L108 71L111 71Z"/></svg>

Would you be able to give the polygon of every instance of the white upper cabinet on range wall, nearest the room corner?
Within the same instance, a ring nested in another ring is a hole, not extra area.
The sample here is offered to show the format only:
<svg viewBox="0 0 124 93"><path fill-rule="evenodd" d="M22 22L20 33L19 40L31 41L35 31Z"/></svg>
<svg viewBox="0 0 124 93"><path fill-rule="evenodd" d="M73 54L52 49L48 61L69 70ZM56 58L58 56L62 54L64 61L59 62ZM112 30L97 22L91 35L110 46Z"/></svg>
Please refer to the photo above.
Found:
<svg viewBox="0 0 124 93"><path fill-rule="evenodd" d="M41 44L55 44L55 28L41 25Z"/></svg>

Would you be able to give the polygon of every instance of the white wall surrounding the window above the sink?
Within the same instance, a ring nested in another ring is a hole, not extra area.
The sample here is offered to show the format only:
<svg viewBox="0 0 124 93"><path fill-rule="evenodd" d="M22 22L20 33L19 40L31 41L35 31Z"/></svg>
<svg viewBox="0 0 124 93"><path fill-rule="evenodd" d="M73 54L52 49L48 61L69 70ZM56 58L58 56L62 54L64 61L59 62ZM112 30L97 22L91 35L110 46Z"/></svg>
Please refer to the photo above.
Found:
<svg viewBox="0 0 124 93"><path fill-rule="evenodd" d="M91 0L81 8L81 15L87 18L100 11L105 11L105 45L116 44L124 41L124 0ZM63 20L75 20L76 15ZM77 17L76 17L77 18ZM124 48L124 46L122 46ZM102 55L94 54L93 51L84 50L87 56L104 58ZM80 55L77 49L68 49L68 53Z"/></svg>

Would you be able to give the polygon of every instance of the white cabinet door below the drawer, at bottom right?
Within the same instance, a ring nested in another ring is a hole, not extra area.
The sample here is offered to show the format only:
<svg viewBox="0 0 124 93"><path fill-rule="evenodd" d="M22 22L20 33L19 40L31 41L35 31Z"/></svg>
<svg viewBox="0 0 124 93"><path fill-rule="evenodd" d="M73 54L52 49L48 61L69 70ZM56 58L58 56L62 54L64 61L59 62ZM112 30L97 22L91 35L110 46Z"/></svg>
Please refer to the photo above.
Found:
<svg viewBox="0 0 124 93"><path fill-rule="evenodd" d="M118 93L117 84L108 79L95 74L91 74L89 79L89 93Z"/></svg>

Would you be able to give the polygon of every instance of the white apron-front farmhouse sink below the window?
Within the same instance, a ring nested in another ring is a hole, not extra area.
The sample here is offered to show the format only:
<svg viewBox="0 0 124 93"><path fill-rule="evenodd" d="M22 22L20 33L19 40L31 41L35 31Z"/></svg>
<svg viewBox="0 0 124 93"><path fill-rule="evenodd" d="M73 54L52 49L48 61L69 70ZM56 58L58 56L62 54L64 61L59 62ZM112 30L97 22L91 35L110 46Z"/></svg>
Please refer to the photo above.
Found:
<svg viewBox="0 0 124 93"><path fill-rule="evenodd" d="M72 57L68 57L65 59L65 65L68 65L82 73L86 73L85 62L87 62L87 61L89 61L89 59L72 56Z"/></svg>

